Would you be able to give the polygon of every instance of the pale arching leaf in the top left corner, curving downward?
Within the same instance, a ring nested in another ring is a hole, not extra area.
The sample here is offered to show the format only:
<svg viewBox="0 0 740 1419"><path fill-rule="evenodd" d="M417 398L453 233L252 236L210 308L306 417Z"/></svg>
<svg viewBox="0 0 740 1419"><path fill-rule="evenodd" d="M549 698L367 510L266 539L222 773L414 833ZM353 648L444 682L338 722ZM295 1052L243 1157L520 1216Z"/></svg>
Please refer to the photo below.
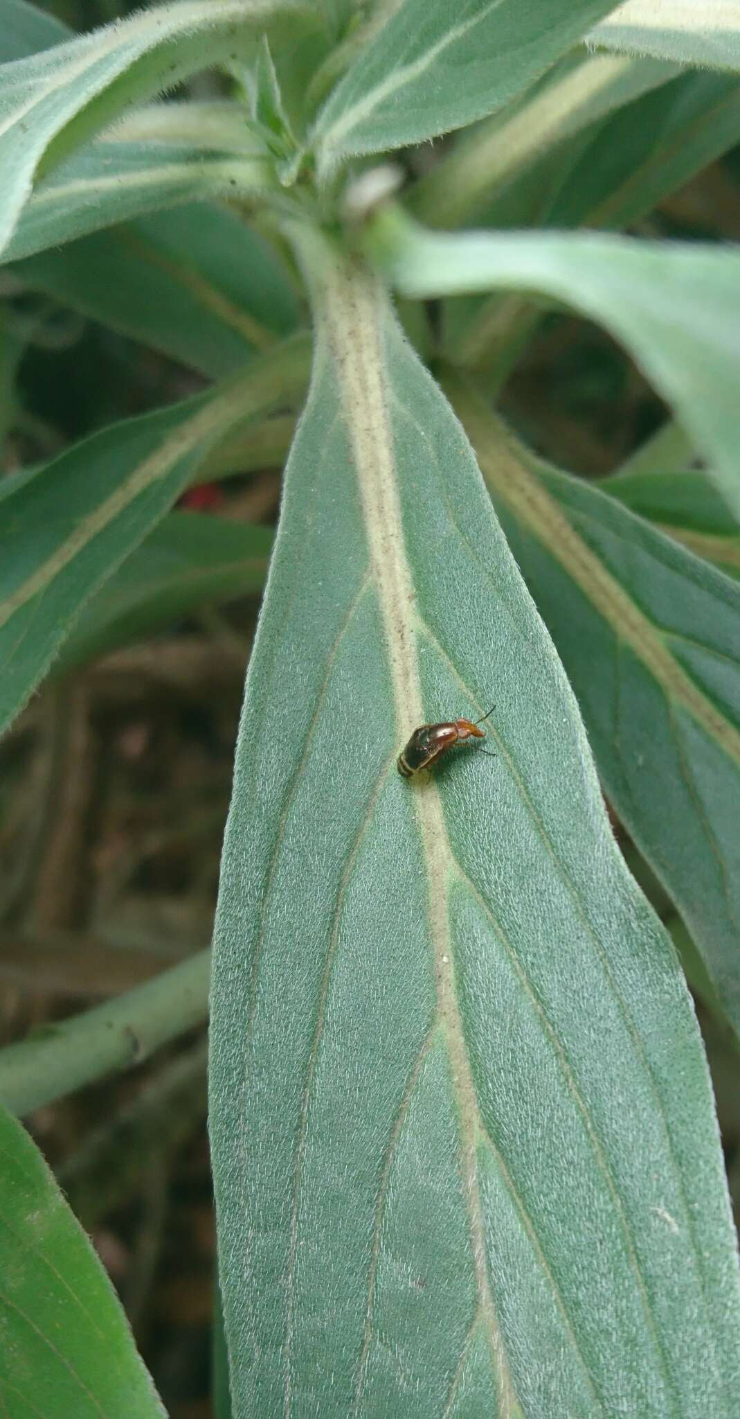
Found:
<svg viewBox="0 0 740 1419"><path fill-rule="evenodd" d="M0 250L37 169L48 172L118 114L231 54L291 0L180 0L0 68Z"/></svg>

